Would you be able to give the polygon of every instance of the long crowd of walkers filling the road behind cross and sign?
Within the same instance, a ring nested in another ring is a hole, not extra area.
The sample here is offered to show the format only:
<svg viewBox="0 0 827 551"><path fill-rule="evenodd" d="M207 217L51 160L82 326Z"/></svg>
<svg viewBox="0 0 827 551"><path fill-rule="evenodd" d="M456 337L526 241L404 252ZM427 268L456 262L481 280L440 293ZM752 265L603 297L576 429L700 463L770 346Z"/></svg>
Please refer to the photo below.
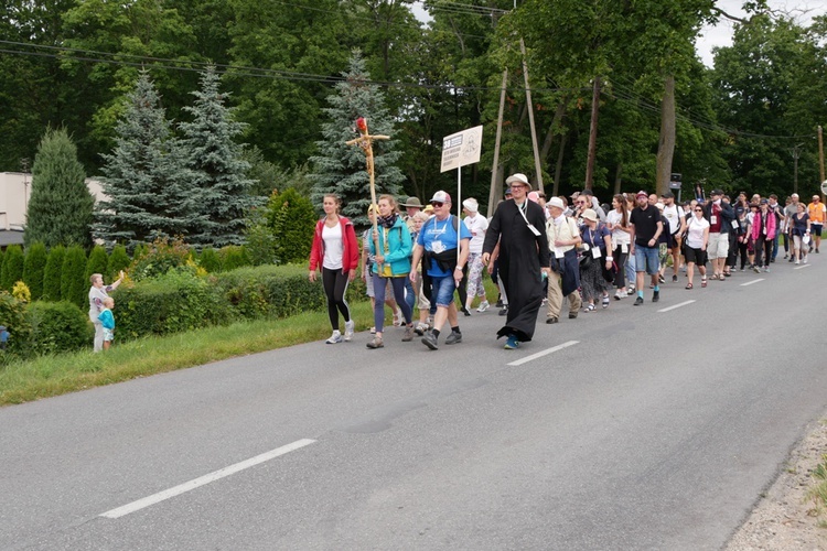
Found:
<svg viewBox="0 0 827 551"><path fill-rule="evenodd" d="M382 195L368 208L374 226L363 234L361 250L353 224L339 214L339 197L325 195L310 280L321 271L333 329L326 343L353 338L345 291L358 269L374 311L368 348L385 346L386 306L393 324L404 328L402 342L417 335L436 350L449 332L445 345L461 343L460 313L471 315L476 300L477 313L491 309L483 285L487 271L498 289L495 307L506 317L497 338L514 349L531 341L544 306L546 323L554 324L565 301L569 318L608 309L612 296L634 298L641 306L647 287L654 303L667 278L673 283L685 278L679 285L691 291L710 280L724 282L737 270L770 272L782 247L783 260L807 263L810 253L820 252L827 218L818 195L805 204L793 194L781 205L776 195L748 199L742 192L733 201L712 190L708 198L678 203L670 191L659 196L640 191L601 205L591 190L547 201L524 174L509 176L506 186L490 218L474 198L462 202L464 216L458 218L443 191L428 205L417 197L398 205Z"/></svg>

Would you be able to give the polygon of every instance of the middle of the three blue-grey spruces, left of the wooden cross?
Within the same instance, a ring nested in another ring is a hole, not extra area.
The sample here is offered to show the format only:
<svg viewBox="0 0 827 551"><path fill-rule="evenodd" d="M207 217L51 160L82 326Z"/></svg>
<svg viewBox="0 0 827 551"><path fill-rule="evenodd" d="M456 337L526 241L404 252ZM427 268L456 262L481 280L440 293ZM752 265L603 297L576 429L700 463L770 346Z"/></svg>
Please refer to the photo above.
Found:
<svg viewBox="0 0 827 551"><path fill-rule="evenodd" d="M233 109L224 105L228 94L222 94L218 84L215 67L207 67L201 76L201 89L193 93L195 102L184 107L193 120L179 125L187 166L198 190L200 225L187 239L196 246L244 244L247 213L264 203L249 194L255 182L245 172L250 165L243 159L241 145L234 141L244 125L233 119Z"/></svg>

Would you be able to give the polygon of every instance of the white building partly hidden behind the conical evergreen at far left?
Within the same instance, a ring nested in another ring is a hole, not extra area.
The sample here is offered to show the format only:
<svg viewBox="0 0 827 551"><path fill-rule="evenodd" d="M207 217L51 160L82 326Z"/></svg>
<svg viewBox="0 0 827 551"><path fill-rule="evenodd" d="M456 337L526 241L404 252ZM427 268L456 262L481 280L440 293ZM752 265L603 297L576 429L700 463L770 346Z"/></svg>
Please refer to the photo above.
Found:
<svg viewBox="0 0 827 551"><path fill-rule="evenodd" d="M86 179L95 202L106 198L100 182ZM22 245L25 215L32 195L32 175L22 172L0 172L0 247Z"/></svg>

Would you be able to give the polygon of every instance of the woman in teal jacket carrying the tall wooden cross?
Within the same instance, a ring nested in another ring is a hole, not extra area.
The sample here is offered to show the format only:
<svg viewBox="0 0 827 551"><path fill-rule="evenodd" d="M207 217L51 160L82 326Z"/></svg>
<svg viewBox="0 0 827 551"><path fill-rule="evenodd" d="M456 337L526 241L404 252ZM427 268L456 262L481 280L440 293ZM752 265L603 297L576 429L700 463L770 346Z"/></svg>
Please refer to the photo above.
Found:
<svg viewBox="0 0 827 551"><path fill-rule="evenodd" d="M370 253L376 262L373 264L374 293L376 304L374 306L374 325L376 335L367 343L368 348L382 348L385 346L382 338L382 329L385 324L385 290L387 282L394 289L396 303L405 316L404 342L414 339L412 312L405 300L405 278L410 273L410 255L412 244L408 225L399 216L396 199L390 195L379 197L379 217L376 219L377 233L368 231L370 236Z"/></svg>

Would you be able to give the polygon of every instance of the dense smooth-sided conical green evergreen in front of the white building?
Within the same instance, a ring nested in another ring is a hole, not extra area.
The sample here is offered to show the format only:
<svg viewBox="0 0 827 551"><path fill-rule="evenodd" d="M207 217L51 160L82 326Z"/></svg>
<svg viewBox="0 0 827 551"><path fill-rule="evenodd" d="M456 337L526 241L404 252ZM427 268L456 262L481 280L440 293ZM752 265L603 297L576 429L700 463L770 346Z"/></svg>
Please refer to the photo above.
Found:
<svg viewBox="0 0 827 551"><path fill-rule="evenodd" d="M77 148L64 128L49 129L37 147L32 166L23 241L55 245L92 245L95 198L86 187Z"/></svg>

